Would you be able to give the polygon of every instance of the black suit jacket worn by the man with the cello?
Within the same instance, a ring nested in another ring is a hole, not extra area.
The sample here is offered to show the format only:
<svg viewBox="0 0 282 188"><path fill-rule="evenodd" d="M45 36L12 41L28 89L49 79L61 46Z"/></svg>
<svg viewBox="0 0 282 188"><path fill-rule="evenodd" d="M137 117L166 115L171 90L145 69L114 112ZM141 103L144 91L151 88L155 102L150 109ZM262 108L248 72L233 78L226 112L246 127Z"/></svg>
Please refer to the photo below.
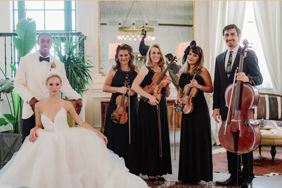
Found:
<svg viewBox="0 0 282 188"><path fill-rule="evenodd" d="M219 108L220 115L227 115L228 113L228 108L225 106L224 93L227 86L233 83L235 70L239 67L241 50L242 47L239 46L229 79L227 79L224 66L227 50L216 57L212 109ZM252 80L254 85L262 84L262 75L259 70L258 58L256 57L256 53L252 50L247 51L247 56L243 63L243 72Z"/></svg>

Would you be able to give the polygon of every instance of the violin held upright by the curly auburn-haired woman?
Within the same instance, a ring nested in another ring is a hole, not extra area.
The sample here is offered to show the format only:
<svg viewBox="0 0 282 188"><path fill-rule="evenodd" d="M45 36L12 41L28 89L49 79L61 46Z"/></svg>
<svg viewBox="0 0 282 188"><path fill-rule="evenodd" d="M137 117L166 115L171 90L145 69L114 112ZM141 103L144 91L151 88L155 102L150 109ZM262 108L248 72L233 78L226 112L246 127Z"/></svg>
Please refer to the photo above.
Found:
<svg viewBox="0 0 282 188"><path fill-rule="evenodd" d="M128 74L126 74L124 80L124 87L126 87L129 84L129 81L130 80L128 79ZM122 95L118 95L115 101L117 108L113 111L113 114L111 115L111 119L114 123L125 124L128 120L126 107L128 107L129 99L125 94L122 94Z"/></svg>

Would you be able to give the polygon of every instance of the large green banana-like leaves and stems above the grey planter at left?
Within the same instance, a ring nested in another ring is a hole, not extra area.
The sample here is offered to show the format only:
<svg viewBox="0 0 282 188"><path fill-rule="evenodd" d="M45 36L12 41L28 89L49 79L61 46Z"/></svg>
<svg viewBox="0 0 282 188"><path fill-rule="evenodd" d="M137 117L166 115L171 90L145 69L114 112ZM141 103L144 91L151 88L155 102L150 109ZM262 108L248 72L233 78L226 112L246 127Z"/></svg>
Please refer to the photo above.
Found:
<svg viewBox="0 0 282 188"><path fill-rule="evenodd" d="M20 19L16 25L16 33L18 37L13 36L13 43L19 53L19 57L26 56L36 45L36 23L31 18ZM10 68L16 74L16 66L10 64ZM1 70L4 74L4 72ZM11 114L3 114L0 118L0 126L9 124L13 133L21 133L21 114L23 100L14 90L14 80L6 77L0 81L0 92L6 95ZM11 94L12 106L10 104L8 94ZM13 108L12 108L13 107Z"/></svg>

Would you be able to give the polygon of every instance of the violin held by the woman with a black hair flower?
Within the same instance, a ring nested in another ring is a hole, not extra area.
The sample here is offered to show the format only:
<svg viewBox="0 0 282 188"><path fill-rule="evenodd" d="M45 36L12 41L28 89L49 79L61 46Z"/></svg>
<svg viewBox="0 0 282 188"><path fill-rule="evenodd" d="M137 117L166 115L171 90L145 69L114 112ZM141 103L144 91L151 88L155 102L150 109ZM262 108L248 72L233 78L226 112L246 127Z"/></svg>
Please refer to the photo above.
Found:
<svg viewBox="0 0 282 188"><path fill-rule="evenodd" d="M201 71L202 67L199 67L197 72L194 74L193 79L195 79L196 75L198 75ZM193 98L197 95L198 88L196 87L189 87L189 84L186 84L183 88L182 98L178 101L176 106L177 111L181 112L182 114L189 114L193 111Z"/></svg>

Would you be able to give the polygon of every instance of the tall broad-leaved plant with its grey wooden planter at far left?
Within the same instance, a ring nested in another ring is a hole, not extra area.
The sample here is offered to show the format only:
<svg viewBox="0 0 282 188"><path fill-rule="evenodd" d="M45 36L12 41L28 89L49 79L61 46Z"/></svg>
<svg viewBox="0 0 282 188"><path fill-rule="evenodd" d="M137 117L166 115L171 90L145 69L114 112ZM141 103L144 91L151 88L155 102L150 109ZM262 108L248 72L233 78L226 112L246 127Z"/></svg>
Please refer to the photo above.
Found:
<svg viewBox="0 0 282 188"><path fill-rule="evenodd" d="M13 43L16 47L19 57L27 55L36 44L36 24L33 19L23 18L16 25L18 37L13 36ZM16 66L10 64L11 69L16 73ZM1 70L4 74L4 72ZM6 75L4 74L4 77ZM0 118L0 126L11 127L11 131L0 132L0 164L6 164L14 152L21 147L21 112L23 101L14 90L14 80L9 78L0 81L0 92L6 95L8 100L10 114L3 114ZM8 98L11 95L12 105Z"/></svg>

